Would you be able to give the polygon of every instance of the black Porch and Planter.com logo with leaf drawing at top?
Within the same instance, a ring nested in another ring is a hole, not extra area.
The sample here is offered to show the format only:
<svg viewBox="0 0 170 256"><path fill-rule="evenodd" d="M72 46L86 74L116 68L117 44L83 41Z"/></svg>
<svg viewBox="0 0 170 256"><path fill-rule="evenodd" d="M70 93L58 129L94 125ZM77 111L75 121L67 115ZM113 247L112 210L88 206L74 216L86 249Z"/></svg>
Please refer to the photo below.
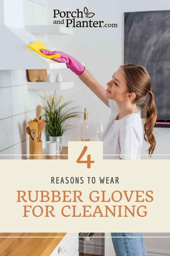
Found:
<svg viewBox="0 0 170 256"><path fill-rule="evenodd" d="M77 28L88 28L88 27L109 27L117 28L117 24L107 24L103 20L93 21L89 18L94 17L95 13L89 12L86 7L84 7L83 12L76 9L74 12L60 12L60 10L53 10L53 18L60 18L60 20L54 20L54 24L65 24L66 27L77 27ZM63 19L61 19L63 18ZM75 18L87 18L87 20L77 20Z"/></svg>

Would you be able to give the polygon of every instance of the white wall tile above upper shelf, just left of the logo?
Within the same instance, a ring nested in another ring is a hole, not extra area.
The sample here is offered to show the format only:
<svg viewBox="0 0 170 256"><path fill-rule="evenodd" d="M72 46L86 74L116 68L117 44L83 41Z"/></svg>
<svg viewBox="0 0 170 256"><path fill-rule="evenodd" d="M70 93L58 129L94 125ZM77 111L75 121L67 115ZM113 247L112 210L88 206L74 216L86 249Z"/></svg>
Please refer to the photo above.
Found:
<svg viewBox="0 0 170 256"><path fill-rule="evenodd" d="M34 25L47 25L47 7L33 3L33 22Z"/></svg>

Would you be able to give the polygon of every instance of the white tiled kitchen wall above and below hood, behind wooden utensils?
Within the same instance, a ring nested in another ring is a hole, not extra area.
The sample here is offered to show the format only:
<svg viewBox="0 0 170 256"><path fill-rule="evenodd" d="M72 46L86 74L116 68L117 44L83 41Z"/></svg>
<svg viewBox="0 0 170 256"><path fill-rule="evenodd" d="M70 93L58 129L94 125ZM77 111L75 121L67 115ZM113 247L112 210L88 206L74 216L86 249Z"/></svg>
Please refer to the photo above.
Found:
<svg viewBox="0 0 170 256"><path fill-rule="evenodd" d="M25 24L47 24L46 0L23 2ZM36 106L42 105L37 94L44 96L44 91L27 90L26 70L0 70L0 159L28 157L21 155L29 154L29 136L25 128L28 121L36 117ZM42 140L45 147L45 132Z"/></svg>

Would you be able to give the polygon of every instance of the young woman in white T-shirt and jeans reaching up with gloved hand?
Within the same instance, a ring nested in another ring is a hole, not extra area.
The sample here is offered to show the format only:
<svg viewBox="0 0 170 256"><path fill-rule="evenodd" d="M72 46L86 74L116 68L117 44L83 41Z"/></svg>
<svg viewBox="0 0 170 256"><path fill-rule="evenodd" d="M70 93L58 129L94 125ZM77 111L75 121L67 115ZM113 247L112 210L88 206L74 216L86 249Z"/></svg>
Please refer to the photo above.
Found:
<svg viewBox="0 0 170 256"><path fill-rule="evenodd" d="M60 52L41 49L46 55L60 53L54 60L67 63L79 78L111 109L111 116L103 134L103 154L118 159L140 159L143 141L141 109L148 95L144 110L144 139L150 144L149 155L155 149L153 127L157 119L151 79L147 70L140 65L120 66L107 83L105 90L73 57ZM111 158L109 156L109 158ZM145 244L141 233L111 233L116 256L144 256Z"/></svg>

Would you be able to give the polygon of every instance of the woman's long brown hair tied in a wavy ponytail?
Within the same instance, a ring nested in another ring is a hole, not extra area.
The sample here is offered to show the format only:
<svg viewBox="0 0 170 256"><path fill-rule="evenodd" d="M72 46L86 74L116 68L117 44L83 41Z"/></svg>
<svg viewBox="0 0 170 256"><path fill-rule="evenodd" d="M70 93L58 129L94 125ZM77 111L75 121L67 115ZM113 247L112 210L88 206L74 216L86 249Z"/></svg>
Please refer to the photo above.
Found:
<svg viewBox="0 0 170 256"><path fill-rule="evenodd" d="M155 97L151 91L151 78L146 68L141 65L125 64L120 67L123 68L125 74L128 92L134 92L136 95L134 103L140 105L145 101L147 95L149 96L142 117L145 118L144 139L150 144L149 155L151 155L156 145L153 127L158 116Z"/></svg>

